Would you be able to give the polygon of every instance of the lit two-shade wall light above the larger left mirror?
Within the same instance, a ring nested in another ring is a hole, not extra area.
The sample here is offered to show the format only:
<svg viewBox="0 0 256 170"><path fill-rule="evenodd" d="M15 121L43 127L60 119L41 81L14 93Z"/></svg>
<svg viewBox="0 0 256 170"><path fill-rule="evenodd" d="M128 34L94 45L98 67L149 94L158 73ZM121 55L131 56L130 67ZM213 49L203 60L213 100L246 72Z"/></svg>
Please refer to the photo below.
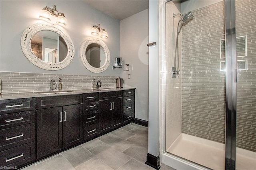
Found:
<svg viewBox="0 0 256 170"><path fill-rule="evenodd" d="M67 19L64 16L64 13L62 12L58 12L56 10L56 6L54 5L53 8L50 7L45 7L41 10L40 14L39 14L39 18L42 18L46 21L50 21L52 16L57 17L57 24L61 24L66 26L67 25Z"/></svg>

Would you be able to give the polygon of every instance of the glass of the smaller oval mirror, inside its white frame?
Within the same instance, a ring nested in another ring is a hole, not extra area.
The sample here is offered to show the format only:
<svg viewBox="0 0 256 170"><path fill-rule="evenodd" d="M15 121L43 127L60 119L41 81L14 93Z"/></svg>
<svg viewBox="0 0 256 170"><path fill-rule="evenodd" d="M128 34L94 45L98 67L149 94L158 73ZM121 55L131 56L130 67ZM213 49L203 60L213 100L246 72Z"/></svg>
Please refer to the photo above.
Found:
<svg viewBox="0 0 256 170"><path fill-rule="evenodd" d="M97 43L91 43L85 52L88 63L95 68L102 67L106 60L106 55L102 46Z"/></svg>

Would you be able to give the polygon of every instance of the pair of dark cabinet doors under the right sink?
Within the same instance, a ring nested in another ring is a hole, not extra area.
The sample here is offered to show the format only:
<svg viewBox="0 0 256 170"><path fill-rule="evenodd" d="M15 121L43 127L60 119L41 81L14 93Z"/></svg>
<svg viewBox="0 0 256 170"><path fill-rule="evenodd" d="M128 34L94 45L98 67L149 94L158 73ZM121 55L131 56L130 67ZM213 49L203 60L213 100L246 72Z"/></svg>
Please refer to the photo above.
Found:
<svg viewBox="0 0 256 170"><path fill-rule="evenodd" d="M122 91L103 92L99 94L100 134L122 125L122 96Z"/></svg>

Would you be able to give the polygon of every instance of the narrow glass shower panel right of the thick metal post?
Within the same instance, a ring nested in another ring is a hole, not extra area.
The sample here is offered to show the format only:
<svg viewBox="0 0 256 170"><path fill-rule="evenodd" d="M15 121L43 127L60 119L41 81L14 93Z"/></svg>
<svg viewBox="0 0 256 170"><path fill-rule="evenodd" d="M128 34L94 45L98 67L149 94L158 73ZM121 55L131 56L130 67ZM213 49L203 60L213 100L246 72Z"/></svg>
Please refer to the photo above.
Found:
<svg viewBox="0 0 256 170"><path fill-rule="evenodd" d="M236 169L256 168L256 2L236 0Z"/></svg>

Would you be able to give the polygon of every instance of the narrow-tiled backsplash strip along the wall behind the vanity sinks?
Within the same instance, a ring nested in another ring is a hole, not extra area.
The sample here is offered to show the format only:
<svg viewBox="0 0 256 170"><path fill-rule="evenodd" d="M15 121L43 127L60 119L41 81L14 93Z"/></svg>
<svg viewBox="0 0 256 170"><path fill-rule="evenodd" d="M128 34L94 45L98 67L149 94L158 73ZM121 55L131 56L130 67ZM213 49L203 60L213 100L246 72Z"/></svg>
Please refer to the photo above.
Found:
<svg viewBox="0 0 256 170"><path fill-rule="evenodd" d="M19 73L0 72L2 79L2 94L32 93L37 91L49 91L50 81L55 80L56 85L59 78L62 79L63 90L92 89L93 79L102 81L102 88L115 88L116 76L94 76L94 75L66 75L46 73Z"/></svg>

